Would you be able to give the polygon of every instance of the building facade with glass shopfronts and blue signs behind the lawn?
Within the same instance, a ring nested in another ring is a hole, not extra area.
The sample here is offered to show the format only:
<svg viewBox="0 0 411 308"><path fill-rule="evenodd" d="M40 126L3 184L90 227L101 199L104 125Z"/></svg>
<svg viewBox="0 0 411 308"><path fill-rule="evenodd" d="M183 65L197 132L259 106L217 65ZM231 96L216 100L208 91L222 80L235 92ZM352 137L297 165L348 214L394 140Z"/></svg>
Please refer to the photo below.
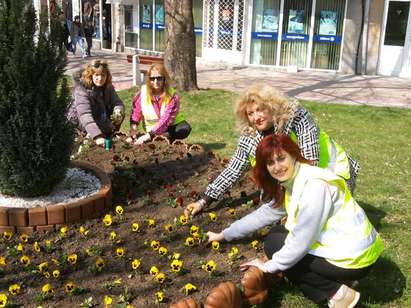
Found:
<svg viewBox="0 0 411 308"><path fill-rule="evenodd" d="M96 48L164 51L164 0L57 2L71 8L71 16L93 16ZM193 0L197 56L237 65L411 77L410 2Z"/></svg>

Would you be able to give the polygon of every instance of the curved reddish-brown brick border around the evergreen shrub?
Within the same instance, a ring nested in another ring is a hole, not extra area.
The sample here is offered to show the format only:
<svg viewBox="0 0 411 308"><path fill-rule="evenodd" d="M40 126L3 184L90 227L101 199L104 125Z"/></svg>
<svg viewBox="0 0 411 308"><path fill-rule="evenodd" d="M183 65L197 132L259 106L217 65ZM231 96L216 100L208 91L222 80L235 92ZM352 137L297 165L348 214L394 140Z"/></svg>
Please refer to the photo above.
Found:
<svg viewBox="0 0 411 308"><path fill-rule="evenodd" d="M100 190L84 199L67 204L45 207L0 207L0 233L4 231L33 233L55 230L58 225L71 224L98 218L112 208L112 188L108 175L96 166L84 161L72 161L71 167L91 172L101 183Z"/></svg>

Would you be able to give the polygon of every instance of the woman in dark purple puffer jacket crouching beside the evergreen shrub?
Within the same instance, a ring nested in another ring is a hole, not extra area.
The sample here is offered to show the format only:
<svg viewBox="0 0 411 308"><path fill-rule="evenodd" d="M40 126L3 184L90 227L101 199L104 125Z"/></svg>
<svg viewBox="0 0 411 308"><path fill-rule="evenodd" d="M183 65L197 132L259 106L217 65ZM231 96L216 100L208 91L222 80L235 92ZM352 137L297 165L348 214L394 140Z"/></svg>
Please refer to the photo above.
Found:
<svg viewBox="0 0 411 308"><path fill-rule="evenodd" d="M103 146L104 139L118 131L124 120L124 104L111 83L107 63L94 60L74 82L68 120Z"/></svg>

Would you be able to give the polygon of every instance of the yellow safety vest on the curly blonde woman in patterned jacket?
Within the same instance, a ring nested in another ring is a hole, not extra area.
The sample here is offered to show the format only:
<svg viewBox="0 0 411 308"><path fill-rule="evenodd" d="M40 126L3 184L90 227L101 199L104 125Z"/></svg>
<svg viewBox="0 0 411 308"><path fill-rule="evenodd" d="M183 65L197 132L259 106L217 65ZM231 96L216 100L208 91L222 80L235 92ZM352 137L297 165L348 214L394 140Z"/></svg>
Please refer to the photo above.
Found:
<svg viewBox="0 0 411 308"><path fill-rule="evenodd" d="M290 138L298 145L297 135L293 131L290 133ZM318 166L329 169L336 175L348 180L350 178L350 161L344 149L323 131L320 131L319 146L320 160ZM251 154L248 156L248 161L252 167L255 166L256 160Z"/></svg>

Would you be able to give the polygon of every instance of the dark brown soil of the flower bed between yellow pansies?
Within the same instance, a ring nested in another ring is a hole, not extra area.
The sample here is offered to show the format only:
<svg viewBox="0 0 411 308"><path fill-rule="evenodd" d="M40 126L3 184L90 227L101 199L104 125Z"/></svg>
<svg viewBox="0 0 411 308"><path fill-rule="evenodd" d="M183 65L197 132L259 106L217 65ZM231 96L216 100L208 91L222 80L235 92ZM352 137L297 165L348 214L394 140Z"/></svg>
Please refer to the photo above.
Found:
<svg viewBox="0 0 411 308"><path fill-rule="evenodd" d="M13 235L9 241L0 240L0 256L7 260L7 265L0 266L0 292L6 293L13 283L22 287L19 295L8 293L10 302L25 307L79 307L92 297L92 303L102 307L104 296L110 295L113 307L125 307L125 302L134 307L167 307L185 296L183 287L186 283L198 288L191 296L204 302L208 292L219 282L232 280L239 283L242 274L238 265L262 254L261 244L259 250L250 246L250 242L257 237L236 243L221 243L219 251L212 250L206 241L193 247L184 245L192 225L199 226L203 232L217 232L253 210L257 201L252 200L258 194L248 176L235 185L222 201L213 204L186 225L179 226L176 221L183 213L182 206L197 199L198 194L223 170L227 160L221 161L213 153L205 153L197 146L188 151L184 143L168 145L165 141L155 141L129 147L122 141L124 138L122 136L115 141L110 150L91 146L78 156L79 160L103 169L112 179L113 206L121 205L124 213L119 216L113 210L110 213L113 217L111 226L105 226L101 217L68 226L66 236L62 236L59 231L30 235L28 243L24 244L24 254L31 259L28 267L20 263L22 254L15 251L21 242L18 235ZM172 207L176 200L182 206L177 204ZM228 208L235 209L234 216L230 215ZM211 211L217 214L215 222L209 219ZM148 219L155 219L155 227L148 227ZM140 225L139 232L132 232L132 223ZM165 224L172 224L174 231L167 233ZM80 226L89 230L87 236L80 234ZM110 239L112 231L117 234L115 240ZM46 240L51 241L48 251ZM152 240L160 241L161 246L168 249L167 256L160 256L150 247ZM33 251L35 241L40 244L41 252ZM238 247L242 258L231 261L228 252L233 246ZM125 249L123 257L116 256L118 247ZM92 255L86 252L90 248ZM174 252L181 254L183 274L170 270L170 258ZM75 265L70 265L65 260L73 253L78 255L78 259ZM106 263L101 272L93 270L98 256ZM141 267L136 271L131 268L134 258L141 260ZM59 260L59 265L53 263L52 259ZM214 260L218 266L214 275L202 269L202 264L209 260ZM52 275L46 278L39 272L38 265L44 261L48 262L47 271L50 274L54 269L61 271L60 278L55 279ZM150 275L149 270L153 265L166 274L164 283L159 284ZM114 283L117 279L121 281ZM74 282L79 288L76 294L65 291L64 286L68 281ZM54 292L46 297L40 296L41 288L46 283L53 286ZM164 303L156 303L155 293L158 291L164 292Z"/></svg>

